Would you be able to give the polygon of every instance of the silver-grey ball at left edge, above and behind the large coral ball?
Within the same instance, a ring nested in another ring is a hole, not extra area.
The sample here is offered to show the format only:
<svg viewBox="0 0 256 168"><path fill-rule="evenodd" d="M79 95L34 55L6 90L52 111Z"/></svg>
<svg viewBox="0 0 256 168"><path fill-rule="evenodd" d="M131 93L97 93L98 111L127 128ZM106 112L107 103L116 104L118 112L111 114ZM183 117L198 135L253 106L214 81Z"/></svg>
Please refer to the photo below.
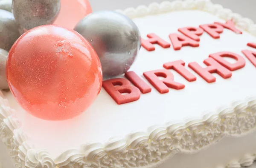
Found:
<svg viewBox="0 0 256 168"><path fill-rule="evenodd" d="M0 48L9 51L19 37L19 27L13 14L0 9Z"/></svg>

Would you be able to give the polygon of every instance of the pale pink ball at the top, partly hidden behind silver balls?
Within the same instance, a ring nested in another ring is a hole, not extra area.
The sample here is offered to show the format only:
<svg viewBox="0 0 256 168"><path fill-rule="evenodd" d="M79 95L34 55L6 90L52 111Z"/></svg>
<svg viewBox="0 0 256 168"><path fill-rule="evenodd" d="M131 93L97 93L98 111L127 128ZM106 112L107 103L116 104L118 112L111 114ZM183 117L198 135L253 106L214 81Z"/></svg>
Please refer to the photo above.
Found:
<svg viewBox="0 0 256 168"><path fill-rule="evenodd" d="M53 24L73 29L91 12L92 8L88 0L61 0L61 10Z"/></svg>

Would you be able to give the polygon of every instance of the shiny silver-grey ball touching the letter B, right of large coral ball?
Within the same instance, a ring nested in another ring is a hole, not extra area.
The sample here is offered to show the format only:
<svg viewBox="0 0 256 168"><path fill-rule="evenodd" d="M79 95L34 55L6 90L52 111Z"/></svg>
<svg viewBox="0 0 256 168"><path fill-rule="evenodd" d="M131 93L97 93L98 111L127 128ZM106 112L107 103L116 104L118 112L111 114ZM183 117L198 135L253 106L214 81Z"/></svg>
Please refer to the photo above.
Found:
<svg viewBox="0 0 256 168"><path fill-rule="evenodd" d="M138 27L131 19L114 11L89 14L74 30L95 49L104 78L127 72L140 50Z"/></svg>

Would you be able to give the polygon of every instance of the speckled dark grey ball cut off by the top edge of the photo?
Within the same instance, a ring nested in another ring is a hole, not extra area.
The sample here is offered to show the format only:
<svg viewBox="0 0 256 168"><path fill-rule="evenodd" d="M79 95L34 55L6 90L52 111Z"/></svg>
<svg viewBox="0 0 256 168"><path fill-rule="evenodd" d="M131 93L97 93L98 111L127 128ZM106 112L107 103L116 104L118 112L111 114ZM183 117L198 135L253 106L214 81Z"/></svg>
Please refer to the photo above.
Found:
<svg viewBox="0 0 256 168"><path fill-rule="evenodd" d="M13 0L12 13L20 27L27 30L52 24L58 17L60 0Z"/></svg>

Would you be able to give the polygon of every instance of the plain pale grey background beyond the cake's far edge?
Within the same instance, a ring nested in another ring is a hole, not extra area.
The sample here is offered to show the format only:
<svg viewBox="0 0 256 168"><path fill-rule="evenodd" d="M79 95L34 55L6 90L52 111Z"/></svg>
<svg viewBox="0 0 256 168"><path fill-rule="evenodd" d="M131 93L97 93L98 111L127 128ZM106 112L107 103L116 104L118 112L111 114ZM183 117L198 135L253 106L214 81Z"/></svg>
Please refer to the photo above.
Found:
<svg viewBox="0 0 256 168"><path fill-rule="evenodd" d="M163 0L89 0L93 11L126 9L128 7L137 7L139 5L148 5L152 2L162 2ZM173 0L170 0L173 1ZM212 0L212 3L218 3L229 8L233 12L241 14L243 17L249 17L256 23L256 0Z"/></svg>

